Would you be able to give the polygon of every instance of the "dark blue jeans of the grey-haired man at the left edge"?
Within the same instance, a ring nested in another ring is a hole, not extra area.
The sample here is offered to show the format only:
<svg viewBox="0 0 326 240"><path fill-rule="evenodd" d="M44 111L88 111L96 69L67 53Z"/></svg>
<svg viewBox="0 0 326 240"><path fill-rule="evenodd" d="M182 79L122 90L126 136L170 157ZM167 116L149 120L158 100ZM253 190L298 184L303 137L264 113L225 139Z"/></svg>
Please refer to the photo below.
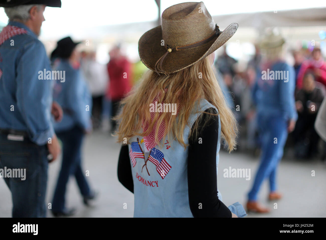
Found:
<svg viewBox="0 0 326 240"><path fill-rule="evenodd" d="M11 191L13 217L46 217L48 154L46 145L38 146L27 138L8 140L7 135L0 135L0 168L26 169L25 180L4 178Z"/></svg>

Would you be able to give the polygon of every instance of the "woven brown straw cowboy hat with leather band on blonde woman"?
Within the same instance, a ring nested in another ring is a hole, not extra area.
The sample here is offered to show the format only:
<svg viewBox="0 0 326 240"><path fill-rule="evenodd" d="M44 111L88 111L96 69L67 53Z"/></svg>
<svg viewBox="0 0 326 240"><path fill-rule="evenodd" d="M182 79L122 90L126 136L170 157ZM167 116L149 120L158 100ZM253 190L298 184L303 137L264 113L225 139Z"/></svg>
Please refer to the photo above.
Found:
<svg viewBox="0 0 326 240"><path fill-rule="evenodd" d="M141 61L151 70L179 72L213 53L238 28L220 31L203 2L173 5L162 13L162 25L144 33L138 43Z"/></svg>

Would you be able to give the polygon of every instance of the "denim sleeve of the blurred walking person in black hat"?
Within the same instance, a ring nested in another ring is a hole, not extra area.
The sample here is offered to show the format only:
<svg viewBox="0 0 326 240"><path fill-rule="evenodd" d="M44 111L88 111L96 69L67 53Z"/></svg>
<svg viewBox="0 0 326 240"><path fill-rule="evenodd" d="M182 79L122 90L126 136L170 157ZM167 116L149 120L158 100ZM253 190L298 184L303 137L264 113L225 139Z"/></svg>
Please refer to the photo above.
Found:
<svg viewBox="0 0 326 240"><path fill-rule="evenodd" d="M71 74L71 75L70 75ZM70 75L70 76L69 76ZM73 70L66 76L68 81L68 107L73 111L75 121L84 130L91 128L92 101L80 71ZM88 105L88 108L87 106Z"/></svg>

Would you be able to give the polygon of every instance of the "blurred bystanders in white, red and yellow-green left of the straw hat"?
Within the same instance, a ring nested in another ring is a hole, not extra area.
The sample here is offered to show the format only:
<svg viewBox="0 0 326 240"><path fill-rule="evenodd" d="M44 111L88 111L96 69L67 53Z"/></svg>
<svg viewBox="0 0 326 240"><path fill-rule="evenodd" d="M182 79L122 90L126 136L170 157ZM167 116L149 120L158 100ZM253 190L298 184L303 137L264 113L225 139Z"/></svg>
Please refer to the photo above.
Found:
<svg viewBox="0 0 326 240"><path fill-rule="evenodd" d="M82 51L80 67L92 95L93 129L116 130L116 116L119 102L146 71L146 66L138 61L131 62L122 51L121 44L112 47L110 60L106 65L96 61L96 52Z"/></svg>

